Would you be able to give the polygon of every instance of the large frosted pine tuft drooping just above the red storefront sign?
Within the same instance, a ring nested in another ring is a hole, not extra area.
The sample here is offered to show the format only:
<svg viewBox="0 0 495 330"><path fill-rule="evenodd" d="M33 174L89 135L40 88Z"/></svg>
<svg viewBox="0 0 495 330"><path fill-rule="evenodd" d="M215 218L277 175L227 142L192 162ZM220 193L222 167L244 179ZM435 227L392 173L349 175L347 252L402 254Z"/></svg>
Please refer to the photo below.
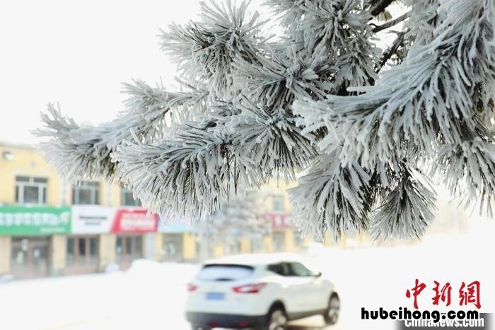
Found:
<svg viewBox="0 0 495 330"><path fill-rule="evenodd" d="M212 214L239 181L249 185L244 164L231 157L228 144L219 130L183 125L175 140L124 142L113 159L147 210L165 219L193 218Z"/></svg>

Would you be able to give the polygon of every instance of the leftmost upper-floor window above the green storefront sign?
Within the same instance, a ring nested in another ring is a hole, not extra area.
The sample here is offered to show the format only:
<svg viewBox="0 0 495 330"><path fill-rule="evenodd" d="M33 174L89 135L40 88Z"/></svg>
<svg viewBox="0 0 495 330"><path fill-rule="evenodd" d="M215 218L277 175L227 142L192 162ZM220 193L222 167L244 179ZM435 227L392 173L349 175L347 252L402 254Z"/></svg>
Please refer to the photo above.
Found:
<svg viewBox="0 0 495 330"><path fill-rule="evenodd" d="M16 176L16 203L46 204L47 186L47 178Z"/></svg>

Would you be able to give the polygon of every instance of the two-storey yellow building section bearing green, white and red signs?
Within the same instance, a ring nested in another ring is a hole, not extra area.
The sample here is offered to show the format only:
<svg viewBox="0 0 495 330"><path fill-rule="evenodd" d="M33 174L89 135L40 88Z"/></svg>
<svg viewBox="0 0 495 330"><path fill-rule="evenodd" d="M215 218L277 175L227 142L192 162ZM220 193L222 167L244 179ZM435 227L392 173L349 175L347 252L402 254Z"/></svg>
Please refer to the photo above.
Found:
<svg viewBox="0 0 495 330"><path fill-rule="evenodd" d="M158 217L102 181L63 181L33 147L0 143L0 276L125 269L155 258Z"/></svg>

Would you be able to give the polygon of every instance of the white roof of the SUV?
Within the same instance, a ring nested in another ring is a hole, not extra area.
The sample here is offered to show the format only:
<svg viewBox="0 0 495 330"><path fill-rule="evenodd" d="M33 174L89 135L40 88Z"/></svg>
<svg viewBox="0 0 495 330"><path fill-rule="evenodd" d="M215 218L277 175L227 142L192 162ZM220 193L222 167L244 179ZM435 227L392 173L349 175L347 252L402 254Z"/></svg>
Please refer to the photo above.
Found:
<svg viewBox="0 0 495 330"><path fill-rule="evenodd" d="M205 261L203 264L237 264L237 265L268 265L270 263L279 263L283 261L301 261L301 256L291 253L279 253L279 254L238 254L235 256L223 256L221 258L214 258Z"/></svg>

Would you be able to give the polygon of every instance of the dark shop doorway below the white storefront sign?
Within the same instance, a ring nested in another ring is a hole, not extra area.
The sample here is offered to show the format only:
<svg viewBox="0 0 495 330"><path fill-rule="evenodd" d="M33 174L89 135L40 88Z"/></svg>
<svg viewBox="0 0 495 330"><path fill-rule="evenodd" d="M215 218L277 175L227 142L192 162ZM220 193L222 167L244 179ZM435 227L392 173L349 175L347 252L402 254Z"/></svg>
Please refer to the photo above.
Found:
<svg viewBox="0 0 495 330"><path fill-rule="evenodd" d="M95 273L98 271L98 236L67 237L67 275Z"/></svg>

